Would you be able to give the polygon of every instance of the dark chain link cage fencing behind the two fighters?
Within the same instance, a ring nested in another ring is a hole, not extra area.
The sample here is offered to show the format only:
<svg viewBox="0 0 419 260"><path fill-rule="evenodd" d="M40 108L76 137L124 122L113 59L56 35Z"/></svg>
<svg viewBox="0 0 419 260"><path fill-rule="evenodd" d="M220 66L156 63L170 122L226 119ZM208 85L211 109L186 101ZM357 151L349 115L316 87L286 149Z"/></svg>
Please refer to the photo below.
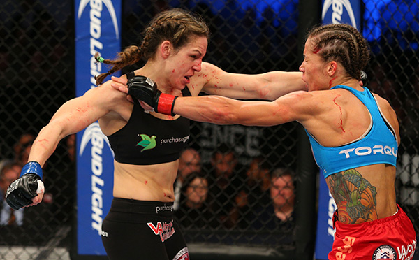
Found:
<svg viewBox="0 0 419 260"><path fill-rule="evenodd" d="M36 133L75 95L73 1L5 0L0 8L1 166L25 162ZM372 50L368 87L390 101L402 136L397 202L419 231L419 3L365 0L362 31ZM212 36L205 57L225 71L297 71L298 1L123 1L122 46L139 44L142 29L161 10L200 13ZM141 64L137 64L140 66ZM135 68L127 68L129 71ZM188 180L176 217L188 243L293 250L293 215L270 210L271 176L294 173L296 123L277 127L218 126L192 122L189 144L200 154L200 182ZM75 222L74 139L62 140L44 167L47 196L25 208L20 224L0 226L1 259L68 259ZM223 168L224 167L224 168ZM219 168L219 171L215 169ZM227 169L226 169L227 168ZM230 170L228 170L230 169ZM315 174L315 173L314 173ZM226 178L228 177L228 178ZM294 177L292 175L292 177ZM291 192L295 181L281 189ZM277 185L278 186L278 185ZM279 186L278 186L279 187ZM4 189L3 186L1 189ZM272 192L271 192L272 189ZM294 189L294 190L293 190ZM190 207L203 192L203 210ZM271 197L272 194L272 197ZM314 199L314 198L312 198ZM2 201L1 214L7 207ZM19 218L19 217L17 217Z"/></svg>

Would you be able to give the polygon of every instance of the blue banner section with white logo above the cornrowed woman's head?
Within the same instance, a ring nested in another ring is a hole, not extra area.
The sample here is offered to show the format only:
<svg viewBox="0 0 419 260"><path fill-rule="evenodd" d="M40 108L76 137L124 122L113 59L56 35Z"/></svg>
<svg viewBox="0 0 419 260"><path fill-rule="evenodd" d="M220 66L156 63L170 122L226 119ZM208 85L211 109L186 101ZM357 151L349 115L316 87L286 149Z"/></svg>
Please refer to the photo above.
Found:
<svg viewBox="0 0 419 260"><path fill-rule="evenodd" d="M323 10L321 12L323 24L351 24L358 28L359 5L359 0L323 0Z"/></svg>

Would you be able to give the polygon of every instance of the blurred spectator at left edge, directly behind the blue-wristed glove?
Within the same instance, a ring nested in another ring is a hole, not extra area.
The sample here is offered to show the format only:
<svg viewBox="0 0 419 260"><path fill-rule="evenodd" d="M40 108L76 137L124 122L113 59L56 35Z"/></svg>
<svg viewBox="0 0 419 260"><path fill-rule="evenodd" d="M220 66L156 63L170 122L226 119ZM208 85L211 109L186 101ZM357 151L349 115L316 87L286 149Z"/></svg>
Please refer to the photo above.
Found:
<svg viewBox="0 0 419 260"><path fill-rule="evenodd" d="M1 211L0 211L0 225L6 226L22 226L24 208L20 210L13 210L6 203L4 197L8 185L19 178L22 166L14 161L6 162L0 171L0 189L1 189Z"/></svg>

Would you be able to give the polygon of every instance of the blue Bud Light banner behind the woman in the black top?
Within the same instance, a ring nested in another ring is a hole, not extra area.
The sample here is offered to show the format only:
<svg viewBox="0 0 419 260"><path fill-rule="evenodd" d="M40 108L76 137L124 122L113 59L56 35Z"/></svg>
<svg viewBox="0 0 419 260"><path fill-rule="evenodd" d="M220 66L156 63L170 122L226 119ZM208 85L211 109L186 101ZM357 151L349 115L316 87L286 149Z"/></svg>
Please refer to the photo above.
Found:
<svg viewBox="0 0 419 260"><path fill-rule="evenodd" d="M112 59L121 50L121 0L75 1L76 96L96 87L94 76L108 71L94 54ZM106 79L108 80L108 78ZM77 134L77 254L105 255L103 218L112 202L113 154L98 122Z"/></svg>

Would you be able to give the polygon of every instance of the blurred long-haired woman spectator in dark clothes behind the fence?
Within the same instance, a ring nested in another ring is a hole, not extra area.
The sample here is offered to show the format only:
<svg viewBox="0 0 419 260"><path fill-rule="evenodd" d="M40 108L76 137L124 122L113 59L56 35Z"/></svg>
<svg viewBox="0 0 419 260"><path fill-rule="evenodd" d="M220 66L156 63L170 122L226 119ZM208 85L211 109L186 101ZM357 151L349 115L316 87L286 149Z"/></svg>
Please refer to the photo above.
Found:
<svg viewBox="0 0 419 260"><path fill-rule="evenodd" d="M175 212L179 223L186 229L216 227L216 218L208 206L208 180L203 173L188 175L182 187L180 208Z"/></svg>

